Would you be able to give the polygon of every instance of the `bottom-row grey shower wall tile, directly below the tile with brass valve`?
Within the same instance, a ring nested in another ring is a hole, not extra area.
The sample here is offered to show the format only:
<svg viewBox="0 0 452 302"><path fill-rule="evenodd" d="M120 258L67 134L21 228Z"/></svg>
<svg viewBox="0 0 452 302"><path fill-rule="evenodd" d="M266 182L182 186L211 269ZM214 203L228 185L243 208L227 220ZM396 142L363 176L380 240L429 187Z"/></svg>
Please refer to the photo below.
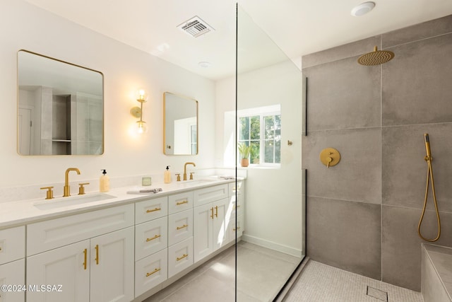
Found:
<svg viewBox="0 0 452 302"><path fill-rule="evenodd" d="M381 279L380 209L379 204L308 196L307 255Z"/></svg>

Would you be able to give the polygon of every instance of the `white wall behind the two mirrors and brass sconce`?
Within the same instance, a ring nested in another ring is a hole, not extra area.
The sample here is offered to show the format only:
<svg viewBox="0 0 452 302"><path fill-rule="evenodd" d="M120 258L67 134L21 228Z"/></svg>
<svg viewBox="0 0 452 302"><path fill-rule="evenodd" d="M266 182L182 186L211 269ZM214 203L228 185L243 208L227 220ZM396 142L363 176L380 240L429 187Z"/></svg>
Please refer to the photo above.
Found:
<svg viewBox="0 0 452 302"><path fill-rule="evenodd" d="M197 168L214 165L215 83L179 66L124 45L80 25L66 21L24 0L0 2L0 191L21 185L64 182L64 171L77 167L81 175L71 180L97 179L100 169L110 178L128 175L162 175L165 166L173 173L184 162ZM102 156L19 156L16 152L17 52L30 50L49 57L101 71L104 74L105 153ZM143 105L148 133L130 132L136 119L130 108L139 105L135 91L149 92ZM162 94L180 93L199 102L198 156L165 156L162 153ZM87 187L97 190L97 182ZM55 194L62 192L55 187ZM39 190L38 190L39 191ZM40 192L44 196L44 192ZM0 199L2 198L0 192Z"/></svg>

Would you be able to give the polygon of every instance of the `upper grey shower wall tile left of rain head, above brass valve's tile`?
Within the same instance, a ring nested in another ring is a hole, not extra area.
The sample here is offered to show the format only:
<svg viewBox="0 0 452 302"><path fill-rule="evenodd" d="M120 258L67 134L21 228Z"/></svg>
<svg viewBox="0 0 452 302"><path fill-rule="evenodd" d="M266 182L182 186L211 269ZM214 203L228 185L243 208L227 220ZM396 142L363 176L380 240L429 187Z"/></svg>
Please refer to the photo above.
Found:
<svg viewBox="0 0 452 302"><path fill-rule="evenodd" d="M307 84L307 131L379 127L380 68L357 57L303 69Z"/></svg>

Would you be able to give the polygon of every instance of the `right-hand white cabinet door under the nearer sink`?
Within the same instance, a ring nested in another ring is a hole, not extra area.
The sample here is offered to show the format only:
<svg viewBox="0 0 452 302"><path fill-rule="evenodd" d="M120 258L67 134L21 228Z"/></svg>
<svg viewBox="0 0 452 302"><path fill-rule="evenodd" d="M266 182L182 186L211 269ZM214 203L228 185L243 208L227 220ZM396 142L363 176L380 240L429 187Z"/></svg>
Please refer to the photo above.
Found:
<svg viewBox="0 0 452 302"><path fill-rule="evenodd" d="M90 301L133 300L133 233L129 227L91 238Z"/></svg>

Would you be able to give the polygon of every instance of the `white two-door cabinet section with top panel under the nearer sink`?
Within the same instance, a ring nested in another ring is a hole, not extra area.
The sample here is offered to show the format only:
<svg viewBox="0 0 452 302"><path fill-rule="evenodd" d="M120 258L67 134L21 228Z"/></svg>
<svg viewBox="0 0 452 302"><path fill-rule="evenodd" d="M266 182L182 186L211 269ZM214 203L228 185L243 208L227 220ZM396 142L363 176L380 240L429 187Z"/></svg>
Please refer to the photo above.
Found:
<svg viewBox="0 0 452 302"><path fill-rule="evenodd" d="M26 283L52 291L28 290L27 300L133 300L133 216L126 204L28 225Z"/></svg>

